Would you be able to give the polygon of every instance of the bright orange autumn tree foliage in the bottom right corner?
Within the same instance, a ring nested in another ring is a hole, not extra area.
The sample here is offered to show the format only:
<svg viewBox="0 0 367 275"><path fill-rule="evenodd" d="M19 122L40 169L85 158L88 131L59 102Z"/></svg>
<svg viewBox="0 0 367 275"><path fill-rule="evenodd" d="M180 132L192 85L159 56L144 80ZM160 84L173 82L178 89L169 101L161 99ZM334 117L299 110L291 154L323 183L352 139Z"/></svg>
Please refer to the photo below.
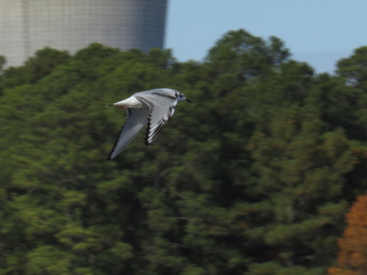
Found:
<svg viewBox="0 0 367 275"><path fill-rule="evenodd" d="M346 214L348 227L339 239L337 266L329 275L367 274L367 195L360 195Z"/></svg>

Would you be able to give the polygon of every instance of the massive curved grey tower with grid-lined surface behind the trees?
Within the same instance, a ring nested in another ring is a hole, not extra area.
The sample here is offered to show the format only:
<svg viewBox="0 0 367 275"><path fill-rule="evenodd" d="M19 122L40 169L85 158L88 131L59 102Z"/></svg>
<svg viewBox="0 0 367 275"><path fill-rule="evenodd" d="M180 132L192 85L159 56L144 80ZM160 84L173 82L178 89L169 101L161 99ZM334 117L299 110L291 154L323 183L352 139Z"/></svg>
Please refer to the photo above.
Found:
<svg viewBox="0 0 367 275"><path fill-rule="evenodd" d="M167 0L0 0L0 55L18 66L44 47L163 48L166 7Z"/></svg>

